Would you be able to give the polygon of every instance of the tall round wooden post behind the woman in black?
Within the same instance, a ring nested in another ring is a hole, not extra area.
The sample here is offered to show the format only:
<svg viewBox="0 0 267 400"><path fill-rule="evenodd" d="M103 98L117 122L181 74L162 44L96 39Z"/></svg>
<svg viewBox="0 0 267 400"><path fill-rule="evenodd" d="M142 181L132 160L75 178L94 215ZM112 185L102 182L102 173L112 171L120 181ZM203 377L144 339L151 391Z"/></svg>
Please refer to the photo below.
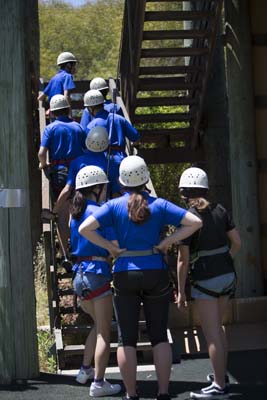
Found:
<svg viewBox="0 0 267 400"><path fill-rule="evenodd" d="M237 294L252 297L262 294L262 278L248 1L226 0L225 22L233 215L242 239Z"/></svg>

